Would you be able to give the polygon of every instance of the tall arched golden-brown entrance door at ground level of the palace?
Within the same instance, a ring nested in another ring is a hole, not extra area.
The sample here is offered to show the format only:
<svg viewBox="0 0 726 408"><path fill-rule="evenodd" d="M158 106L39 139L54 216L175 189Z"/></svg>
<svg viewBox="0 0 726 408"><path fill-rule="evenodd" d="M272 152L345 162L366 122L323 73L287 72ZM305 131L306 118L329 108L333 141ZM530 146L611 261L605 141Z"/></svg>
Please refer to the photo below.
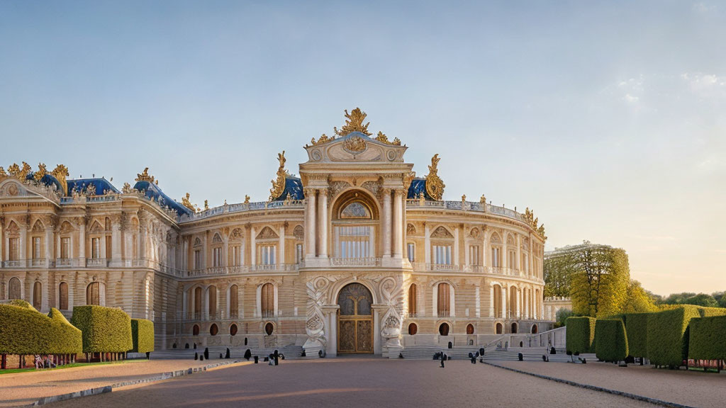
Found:
<svg viewBox="0 0 726 408"><path fill-rule="evenodd" d="M338 353L373 352L373 295L360 283L340 290L338 305Z"/></svg>

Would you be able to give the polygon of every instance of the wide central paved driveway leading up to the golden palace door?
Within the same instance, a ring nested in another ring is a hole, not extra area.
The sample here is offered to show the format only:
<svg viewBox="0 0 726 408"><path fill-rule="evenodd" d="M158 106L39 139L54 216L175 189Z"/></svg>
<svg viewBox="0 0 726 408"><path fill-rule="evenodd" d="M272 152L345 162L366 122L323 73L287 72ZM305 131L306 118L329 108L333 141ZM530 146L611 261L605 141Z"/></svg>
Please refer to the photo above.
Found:
<svg viewBox="0 0 726 408"><path fill-rule="evenodd" d="M251 364L60 407L653 407L640 401L452 360L314 359Z"/></svg>

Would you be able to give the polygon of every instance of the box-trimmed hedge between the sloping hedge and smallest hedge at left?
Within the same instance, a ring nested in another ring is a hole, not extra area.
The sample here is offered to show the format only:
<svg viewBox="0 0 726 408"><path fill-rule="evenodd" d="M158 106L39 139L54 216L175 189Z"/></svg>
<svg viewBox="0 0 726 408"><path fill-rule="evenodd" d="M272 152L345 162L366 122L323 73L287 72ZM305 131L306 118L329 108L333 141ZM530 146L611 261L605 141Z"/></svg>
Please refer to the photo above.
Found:
<svg viewBox="0 0 726 408"><path fill-rule="evenodd" d="M83 353L123 353L134 347L131 318L121 309L76 306L70 322L83 332Z"/></svg>

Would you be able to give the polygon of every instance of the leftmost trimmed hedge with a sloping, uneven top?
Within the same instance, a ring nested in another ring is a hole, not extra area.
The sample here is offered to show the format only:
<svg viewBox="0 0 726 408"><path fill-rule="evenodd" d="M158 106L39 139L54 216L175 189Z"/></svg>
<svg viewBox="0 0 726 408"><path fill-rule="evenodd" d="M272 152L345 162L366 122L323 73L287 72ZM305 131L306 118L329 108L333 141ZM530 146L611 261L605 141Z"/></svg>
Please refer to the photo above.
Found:
<svg viewBox="0 0 726 408"><path fill-rule="evenodd" d="M57 309L46 316L25 301L0 304L0 354L78 354L81 350L81 330Z"/></svg>

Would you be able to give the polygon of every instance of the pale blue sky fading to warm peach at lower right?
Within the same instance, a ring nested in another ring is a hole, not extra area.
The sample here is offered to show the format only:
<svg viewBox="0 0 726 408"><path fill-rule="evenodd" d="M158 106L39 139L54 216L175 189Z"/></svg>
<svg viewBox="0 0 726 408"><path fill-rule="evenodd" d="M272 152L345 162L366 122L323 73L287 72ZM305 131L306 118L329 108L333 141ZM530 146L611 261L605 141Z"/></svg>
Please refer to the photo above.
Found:
<svg viewBox="0 0 726 408"><path fill-rule="evenodd" d="M361 107L444 197L546 249L624 248L662 295L726 290L726 4L0 1L0 166L144 167L181 201L266 200L285 150Z"/></svg>

